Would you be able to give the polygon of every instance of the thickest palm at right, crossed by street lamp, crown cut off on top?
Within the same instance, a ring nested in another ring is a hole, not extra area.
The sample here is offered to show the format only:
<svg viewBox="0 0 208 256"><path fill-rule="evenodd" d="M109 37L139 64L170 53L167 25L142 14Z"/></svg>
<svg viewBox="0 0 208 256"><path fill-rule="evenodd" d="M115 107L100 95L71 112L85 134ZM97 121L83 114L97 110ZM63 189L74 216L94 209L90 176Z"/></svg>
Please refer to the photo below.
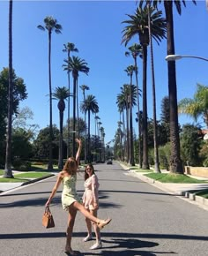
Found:
<svg viewBox="0 0 208 256"><path fill-rule="evenodd" d="M140 6L145 2L140 1ZM195 0L192 0L196 4ZM174 14L173 3L176 10L181 15L182 4L186 6L185 0L149 0L153 6L157 7L158 4L164 3L166 20L167 20L167 55L175 55L175 39L174 39ZM179 138L179 125L178 125L178 107L177 107L177 84L175 73L175 61L167 62L168 72L168 97L170 104L170 172L183 174L182 159L180 152L180 138Z"/></svg>

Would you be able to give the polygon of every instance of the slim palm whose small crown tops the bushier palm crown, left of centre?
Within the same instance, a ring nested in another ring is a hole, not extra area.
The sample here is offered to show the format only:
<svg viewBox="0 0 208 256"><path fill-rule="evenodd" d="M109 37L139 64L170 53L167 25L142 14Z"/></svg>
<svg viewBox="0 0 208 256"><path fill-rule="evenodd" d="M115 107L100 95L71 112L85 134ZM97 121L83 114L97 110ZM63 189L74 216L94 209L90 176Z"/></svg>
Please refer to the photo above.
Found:
<svg viewBox="0 0 208 256"><path fill-rule="evenodd" d="M68 60L70 59L71 52L78 52L78 49L75 47L75 44L72 42L67 42L67 44L63 44L63 52L67 52ZM68 122L67 122L67 157L70 155L70 71L68 73L68 85L69 85L69 97L68 97Z"/></svg>

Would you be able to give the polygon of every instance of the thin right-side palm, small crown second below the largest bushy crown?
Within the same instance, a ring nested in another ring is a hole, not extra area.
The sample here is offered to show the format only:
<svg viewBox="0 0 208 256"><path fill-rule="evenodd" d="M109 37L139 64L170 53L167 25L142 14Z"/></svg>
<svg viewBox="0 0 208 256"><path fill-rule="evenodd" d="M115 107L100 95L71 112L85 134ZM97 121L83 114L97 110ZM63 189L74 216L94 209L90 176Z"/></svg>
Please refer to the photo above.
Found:
<svg viewBox="0 0 208 256"><path fill-rule="evenodd" d="M127 75L130 76L130 97L128 99L129 102L129 110L130 110L130 160L129 163L130 165L134 166L135 162L134 162L134 141L133 141L133 117L132 117L132 77L133 77L133 72L137 72L135 70L135 66L134 65L130 65L127 67L127 69L125 70L125 72L127 72Z"/></svg>

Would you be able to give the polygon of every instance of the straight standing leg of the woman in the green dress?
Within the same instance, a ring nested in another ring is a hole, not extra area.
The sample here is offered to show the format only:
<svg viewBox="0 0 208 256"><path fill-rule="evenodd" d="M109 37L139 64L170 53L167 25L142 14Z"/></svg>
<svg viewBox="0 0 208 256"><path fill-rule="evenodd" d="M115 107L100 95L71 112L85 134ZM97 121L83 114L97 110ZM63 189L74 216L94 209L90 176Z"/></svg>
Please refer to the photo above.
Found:
<svg viewBox="0 0 208 256"><path fill-rule="evenodd" d="M77 209L74 207L69 208L69 219L68 219L68 227L67 227L67 237L66 237L66 247L65 251L70 252L71 255L74 254L73 250L71 249L71 237L72 237L72 232L73 232L73 227L74 227L74 222L75 222L75 217L77 215Z"/></svg>

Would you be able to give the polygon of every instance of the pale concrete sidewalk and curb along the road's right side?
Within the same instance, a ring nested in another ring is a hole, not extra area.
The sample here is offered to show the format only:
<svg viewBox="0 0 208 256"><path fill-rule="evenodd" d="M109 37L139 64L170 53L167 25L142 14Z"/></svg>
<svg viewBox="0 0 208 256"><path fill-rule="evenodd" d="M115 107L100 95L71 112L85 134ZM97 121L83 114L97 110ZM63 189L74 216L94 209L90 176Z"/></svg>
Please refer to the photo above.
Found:
<svg viewBox="0 0 208 256"><path fill-rule="evenodd" d="M181 196L183 199L189 200L189 202L196 203L198 206L204 207L204 209L208 210L208 199L204 199L203 197L195 195L194 191L199 191L203 189L208 189L208 183L201 184L179 184L179 183L161 183L160 181L154 180L149 177L145 177L145 172L136 172L133 169L129 169L129 167L120 163L123 169L126 170L126 175L131 175L141 179L142 181L152 184L153 186L167 192L170 194L174 194L176 196ZM167 170L161 170L161 172L168 173ZM198 180L208 180L205 177L189 177L196 178Z"/></svg>

